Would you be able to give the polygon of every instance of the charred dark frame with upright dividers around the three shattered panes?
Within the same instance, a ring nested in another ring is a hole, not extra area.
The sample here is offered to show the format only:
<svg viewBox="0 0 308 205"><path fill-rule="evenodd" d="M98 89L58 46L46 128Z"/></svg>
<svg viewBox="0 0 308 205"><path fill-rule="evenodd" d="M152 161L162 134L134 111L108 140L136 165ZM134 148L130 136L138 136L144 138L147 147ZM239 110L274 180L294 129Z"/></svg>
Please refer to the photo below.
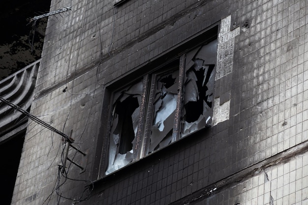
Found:
<svg viewBox="0 0 308 205"><path fill-rule="evenodd" d="M105 88L105 93L104 93L104 102L103 102L103 112L102 112L102 116L108 116L108 117L104 117L104 120L101 120L101 124L103 126L101 126L101 128L99 129L99 136L97 137L98 140L98 146L96 148L96 156L100 156L100 160L96 160L94 165L93 165L93 172L94 172L94 176L97 176L97 178L101 178L101 177L106 177L109 176L105 175L105 171L107 168L107 162L108 161L108 151L106 151L107 147L108 147L108 141L109 141L109 135L110 135L110 125L111 125L111 121L110 121L110 117L111 117L111 112L112 112L112 105L113 105L113 93L115 93L117 90L121 90L125 87L127 87L128 85L130 85L129 79L131 79L131 76L139 76L138 79L142 79L142 85L143 85L143 91L142 91L142 97L143 100L141 100L141 105L140 105L140 116L143 117L139 117L139 125L138 125L138 130L136 133L136 147L134 149L133 147L133 160L128 163L127 165L125 165L123 168L133 164L136 161L139 161L143 158L146 158L147 156L150 156L154 153L156 153L158 150L155 150L149 154L146 154L146 149L149 143L145 143L145 141L149 140L147 138L149 138L148 133L146 132L146 126L148 126L150 119L146 116L148 116L149 110L146 109L146 105L150 103L150 99L147 99L149 97L149 79L151 77L151 75L153 75L154 73L159 72L159 70L161 68L163 68L164 66L170 64L172 61L177 60L179 62L179 90L178 90L178 95L177 95L177 107L176 107L176 114L175 114L175 120L174 120L174 125L173 125L173 134L172 134L172 140L171 143L168 144L167 146L163 147L162 149L170 146L171 144L176 143L177 141L186 138L193 133L188 134L187 136L181 138L180 132L181 132L181 117L182 117L182 112L183 112L183 101L181 100L181 98L184 97L184 91L183 91L183 87L184 87L184 77L185 77L185 58L186 58L186 53L188 53L189 51L192 51L193 49L208 44L213 40L217 40L217 33L218 33L218 25L214 25L212 28L208 29L206 32L203 32L201 34L197 34L196 36L191 37L190 39L186 40L185 42L183 42L181 45L179 45L177 48L172 48L169 51L161 54L159 57L157 57L156 59L153 59L152 61L149 61L145 64L142 64L138 67L136 67L134 69L133 72L130 72L130 74L126 75L125 77L123 77L122 79L116 79L113 82L110 82L109 85L106 85ZM218 43L218 42L217 42ZM191 47L191 45L194 45L193 47ZM178 52L178 51L181 52ZM216 57L217 58L217 57ZM168 59L168 60L167 60ZM163 61L164 63L159 63ZM157 66L158 65L158 66ZM148 72L143 72L144 67L148 67ZM137 81L137 80L136 80ZM135 82L136 82L135 81ZM123 85L122 82L125 82L124 86L121 86L121 88L119 88L119 85ZM118 88L118 89L115 89ZM153 105L151 105L153 106ZM212 105L212 110L214 107L214 103ZM152 112L152 111L151 111ZM108 113L108 114L107 114ZM107 115L104 115L107 114ZM151 117L152 119L152 117ZM107 126L106 126L107 125ZM150 125L149 125L150 126ZM203 130L204 128L202 128L201 130ZM149 129L148 129L149 131ZM196 132L198 132L199 130L197 130ZM101 137L104 136L104 137ZM119 170L122 170L123 168L120 168L118 170L116 170L115 172L113 172L112 174L118 172ZM95 174L96 173L96 174Z"/></svg>

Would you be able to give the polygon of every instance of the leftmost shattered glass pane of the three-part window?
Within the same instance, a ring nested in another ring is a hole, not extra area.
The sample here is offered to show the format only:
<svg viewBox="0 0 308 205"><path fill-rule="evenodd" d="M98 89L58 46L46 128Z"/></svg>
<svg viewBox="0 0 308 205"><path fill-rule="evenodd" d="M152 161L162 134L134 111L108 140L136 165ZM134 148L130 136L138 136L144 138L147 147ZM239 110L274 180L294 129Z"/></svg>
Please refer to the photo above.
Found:
<svg viewBox="0 0 308 205"><path fill-rule="evenodd" d="M141 96L141 81L114 95L106 175L133 160Z"/></svg>

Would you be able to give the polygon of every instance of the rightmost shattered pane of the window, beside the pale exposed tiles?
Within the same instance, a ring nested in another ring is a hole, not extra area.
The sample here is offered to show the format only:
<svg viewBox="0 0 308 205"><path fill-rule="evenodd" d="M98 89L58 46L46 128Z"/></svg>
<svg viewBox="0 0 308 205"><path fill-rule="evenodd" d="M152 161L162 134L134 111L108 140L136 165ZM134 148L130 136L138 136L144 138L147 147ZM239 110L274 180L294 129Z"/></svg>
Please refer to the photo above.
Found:
<svg viewBox="0 0 308 205"><path fill-rule="evenodd" d="M216 50L215 40L186 55L181 137L212 122Z"/></svg>

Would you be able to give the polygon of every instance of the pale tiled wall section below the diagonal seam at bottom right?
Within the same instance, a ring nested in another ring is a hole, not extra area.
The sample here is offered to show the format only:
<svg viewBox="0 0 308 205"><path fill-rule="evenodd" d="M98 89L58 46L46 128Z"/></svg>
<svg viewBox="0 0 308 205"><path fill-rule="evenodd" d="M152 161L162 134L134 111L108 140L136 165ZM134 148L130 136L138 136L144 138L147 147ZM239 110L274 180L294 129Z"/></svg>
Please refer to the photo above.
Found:
<svg viewBox="0 0 308 205"><path fill-rule="evenodd" d="M264 169L194 205L307 205L308 152Z"/></svg>

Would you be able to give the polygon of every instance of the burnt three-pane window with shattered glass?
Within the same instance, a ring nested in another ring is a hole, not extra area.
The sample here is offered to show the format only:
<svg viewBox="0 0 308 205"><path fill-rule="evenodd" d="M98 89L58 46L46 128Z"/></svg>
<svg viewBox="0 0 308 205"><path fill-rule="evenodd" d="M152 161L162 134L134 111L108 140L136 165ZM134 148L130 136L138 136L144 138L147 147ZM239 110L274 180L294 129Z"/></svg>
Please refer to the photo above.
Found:
<svg viewBox="0 0 308 205"><path fill-rule="evenodd" d="M211 125L217 41L112 95L105 175Z"/></svg>

